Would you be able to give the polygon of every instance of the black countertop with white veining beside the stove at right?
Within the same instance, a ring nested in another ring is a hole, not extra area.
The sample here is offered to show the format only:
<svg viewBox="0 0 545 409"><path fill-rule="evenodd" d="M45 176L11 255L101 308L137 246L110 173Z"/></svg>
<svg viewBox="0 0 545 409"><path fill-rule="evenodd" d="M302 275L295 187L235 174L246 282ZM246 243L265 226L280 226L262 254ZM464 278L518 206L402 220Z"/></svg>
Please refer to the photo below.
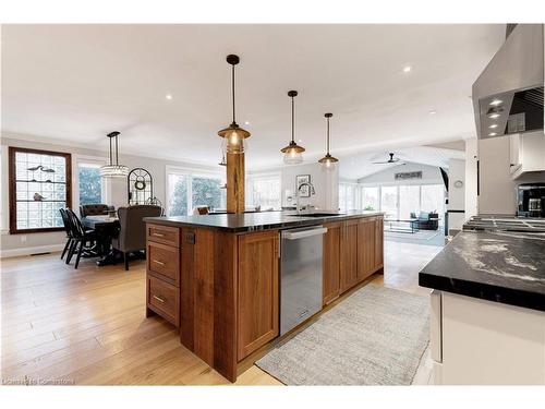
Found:
<svg viewBox="0 0 545 409"><path fill-rule="evenodd" d="M545 233L462 231L420 272L419 284L545 311Z"/></svg>

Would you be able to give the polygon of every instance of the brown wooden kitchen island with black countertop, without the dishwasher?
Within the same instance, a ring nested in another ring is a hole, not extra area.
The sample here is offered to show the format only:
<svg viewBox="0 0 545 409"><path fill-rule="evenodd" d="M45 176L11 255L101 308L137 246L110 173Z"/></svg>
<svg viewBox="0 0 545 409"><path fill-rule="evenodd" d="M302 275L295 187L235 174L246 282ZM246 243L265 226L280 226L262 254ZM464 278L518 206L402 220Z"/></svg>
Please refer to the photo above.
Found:
<svg viewBox="0 0 545 409"><path fill-rule="evenodd" d="M146 218L147 316L231 382L279 337L280 232L323 226L325 306L383 270L383 214L254 213ZM308 317L311 318L311 317Z"/></svg>

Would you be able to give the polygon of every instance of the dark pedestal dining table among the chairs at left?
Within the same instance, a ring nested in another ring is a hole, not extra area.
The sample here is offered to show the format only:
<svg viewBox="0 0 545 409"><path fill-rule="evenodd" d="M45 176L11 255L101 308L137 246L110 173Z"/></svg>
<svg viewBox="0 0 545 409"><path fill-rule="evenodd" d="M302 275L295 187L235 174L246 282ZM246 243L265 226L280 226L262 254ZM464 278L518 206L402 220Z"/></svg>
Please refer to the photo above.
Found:
<svg viewBox="0 0 545 409"><path fill-rule="evenodd" d="M98 266L117 264L122 261L120 253L111 248L111 240L118 234L120 227L119 218L110 215L84 216L81 218L82 225L86 229L93 229L98 237Z"/></svg>

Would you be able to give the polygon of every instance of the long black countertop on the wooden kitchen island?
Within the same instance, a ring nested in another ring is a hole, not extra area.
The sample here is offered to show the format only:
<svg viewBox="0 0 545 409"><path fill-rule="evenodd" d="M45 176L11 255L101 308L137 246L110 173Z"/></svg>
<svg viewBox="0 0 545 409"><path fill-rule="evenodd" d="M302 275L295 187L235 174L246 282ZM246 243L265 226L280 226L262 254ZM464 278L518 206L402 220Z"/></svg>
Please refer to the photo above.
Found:
<svg viewBox="0 0 545 409"><path fill-rule="evenodd" d="M316 210L315 213L319 213ZM173 217L146 217L147 222L167 226L191 226L199 228L214 228L230 232L259 231L271 229L287 229L322 225L324 222L340 221L359 217L383 215L380 212L347 212L320 217L296 216L294 212L263 212L245 213L240 215L198 215Z"/></svg>

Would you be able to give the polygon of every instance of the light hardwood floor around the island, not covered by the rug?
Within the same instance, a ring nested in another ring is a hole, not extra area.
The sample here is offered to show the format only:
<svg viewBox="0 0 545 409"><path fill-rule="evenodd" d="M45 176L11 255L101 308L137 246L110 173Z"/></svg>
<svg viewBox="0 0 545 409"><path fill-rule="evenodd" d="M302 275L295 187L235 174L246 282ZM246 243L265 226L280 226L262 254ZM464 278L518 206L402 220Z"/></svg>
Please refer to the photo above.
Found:
<svg viewBox="0 0 545 409"><path fill-rule="evenodd" d="M435 254L417 248L386 242L385 277L374 281L426 291L417 272ZM125 272L82 260L75 270L55 253L4 258L1 269L3 384L229 384L180 344L170 324L145 318L145 261ZM237 385L280 383L254 365Z"/></svg>

